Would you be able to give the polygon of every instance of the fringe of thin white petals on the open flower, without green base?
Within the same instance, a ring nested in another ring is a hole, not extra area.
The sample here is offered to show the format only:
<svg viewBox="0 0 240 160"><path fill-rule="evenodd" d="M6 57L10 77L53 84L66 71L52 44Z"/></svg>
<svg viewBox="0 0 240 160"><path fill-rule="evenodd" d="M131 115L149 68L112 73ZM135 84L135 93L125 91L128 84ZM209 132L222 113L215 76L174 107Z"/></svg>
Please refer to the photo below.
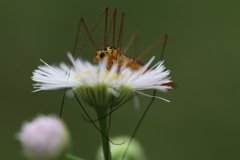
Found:
<svg viewBox="0 0 240 160"><path fill-rule="evenodd" d="M111 88L110 92L117 92L121 86L129 87L133 91L145 89L167 91L167 89L171 88L163 85L171 82L168 77L170 71L164 71L163 61L156 63L148 69L154 57L139 70L122 67L120 72L118 72L118 64L114 64L111 70L107 71L106 58L98 65L92 65L81 59L75 60L70 53L67 55L71 61L71 67L64 63L61 63L59 66L50 66L42 61L44 66L39 66L32 76L33 81L37 82L34 84L35 91L65 87L75 89L80 86L93 86L98 83L109 85L109 88ZM114 92L112 93L115 94Z"/></svg>

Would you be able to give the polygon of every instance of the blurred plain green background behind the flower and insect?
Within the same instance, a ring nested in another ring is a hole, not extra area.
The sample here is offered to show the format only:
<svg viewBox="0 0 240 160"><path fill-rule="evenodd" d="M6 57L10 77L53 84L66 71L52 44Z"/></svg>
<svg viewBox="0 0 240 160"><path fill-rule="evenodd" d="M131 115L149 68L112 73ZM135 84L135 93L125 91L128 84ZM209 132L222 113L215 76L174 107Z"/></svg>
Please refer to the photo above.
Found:
<svg viewBox="0 0 240 160"><path fill-rule="evenodd" d="M14 134L21 123L38 113L58 114L62 90L31 93L32 71L43 59L47 63L68 62L78 20L91 28L108 6L111 15L126 13L123 46L140 30L139 52L145 51L165 33L169 39L165 65L176 88L158 96L136 138L151 160L213 160L240 158L239 42L240 1L47 1L0 2L1 19L1 159L23 159ZM102 47L103 21L93 37ZM81 45L86 34L81 30ZM159 56L162 45L142 62ZM79 49L79 48L78 48ZM127 53L134 56L134 47ZM82 53L92 61L89 43ZM151 92L146 92L151 94ZM140 96L141 108L133 102L113 114L111 135L131 135L150 98ZM94 112L88 110L91 116ZM80 116L77 101L67 98L63 118L72 133L71 153L95 159L100 144L98 131Z"/></svg>

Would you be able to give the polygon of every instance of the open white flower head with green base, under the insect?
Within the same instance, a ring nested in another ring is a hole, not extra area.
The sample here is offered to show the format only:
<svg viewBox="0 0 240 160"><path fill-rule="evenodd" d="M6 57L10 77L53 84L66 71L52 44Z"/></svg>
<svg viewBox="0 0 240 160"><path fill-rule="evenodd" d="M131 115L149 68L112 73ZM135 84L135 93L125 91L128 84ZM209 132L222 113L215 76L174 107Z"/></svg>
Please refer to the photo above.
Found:
<svg viewBox="0 0 240 160"><path fill-rule="evenodd" d="M107 59L98 65L93 65L81 59L74 60L70 53L68 57L71 67L64 63L50 66L42 61L45 65L39 66L32 76L32 80L37 82L34 85L35 91L72 88L90 106L104 107L116 106L131 91L145 89L166 91L171 88L164 85L171 80L168 77L170 71L164 71L163 62L158 62L148 69L154 57L139 70L121 67L120 71L118 64L107 70ZM89 97L91 97L90 101L87 100ZM115 98L114 102L109 101L112 98Z"/></svg>

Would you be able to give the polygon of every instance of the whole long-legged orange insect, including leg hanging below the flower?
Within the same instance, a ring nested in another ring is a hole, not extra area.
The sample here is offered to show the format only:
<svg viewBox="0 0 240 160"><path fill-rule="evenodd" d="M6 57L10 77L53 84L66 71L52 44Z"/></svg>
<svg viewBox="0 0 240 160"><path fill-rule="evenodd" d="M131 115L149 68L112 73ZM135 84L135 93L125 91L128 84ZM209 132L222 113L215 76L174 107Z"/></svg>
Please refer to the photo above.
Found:
<svg viewBox="0 0 240 160"><path fill-rule="evenodd" d="M148 49L146 49L140 56L138 56L135 59L131 58L130 56L128 56L126 54L126 52L127 52L128 48L129 48L129 46L131 45L132 41L136 38L136 36L137 36L136 32L130 38L130 40L129 40L128 44L127 44L127 47L125 49L123 49L123 50L120 49L121 48L120 45L121 45L121 42L122 42L123 23L124 23L124 17L125 17L124 13L121 16L120 27L119 27L120 29L119 29L119 32L118 32L117 42L115 44L116 13L117 13L117 10L114 9L113 15L112 15L112 18L111 18L111 22L110 22L110 24L108 24L108 8L106 7L102 11L101 15L99 16L98 20L96 21L96 23L95 23L95 25L94 25L94 27L92 28L91 31L88 30L88 27L86 26L85 21L83 20L83 18L80 19L79 25L78 25L78 29L77 29L74 49L73 49L73 52L72 52L73 54L75 53L76 46L77 46L77 43L78 43L78 37L79 37L79 31L80 31L80 26L81 25L83 25L83 27L84 27L88 37L87 37L86 41L83 43L82 47L80 48L80 50L77 53L77 55L75 56L75 58L77 58L81 54L81 52L83 51L84 47L86 46L86 44L90 40L92 45L93 45L93 47L94 47L94 49L95 49L95 54L96 54L94 59L93 59L94 62L101 61L103 58L108 57L107 69L109 69L109 70L111 69L111 67L113 66L114 63L118 64L119 70L121 69L123 64L126 64L127 67L129 67L129 68L131 68L133 70L138 70L138 69L140 69L140 68L142 68L144 66L144 64L139 62L139 59L142 58L145 54L147 54L151 49L153 49L160 42L164 41L163 42L162 51L161 51L161 57L160 57L160 60L162 60L163 59L164 49L165 49L165 46L166 46L167 37L168 37L167 34L165 34L161 38L159 38L155 43L153 43L153 45L151 45ZM92 34L93 34L96 26L99 24L99 21L102 19L102 17L104 15L105 15L105 21L104 21L105 23L104 23L103 47L102 47L103 49L99 50L97 45L95 44L93 38L92 38ZM110 44L107 44L108 41L109 41L109 36L110 35L111 35L111 42L110 42ZM147 71L148 70L146 70L146 72ZM173 86L172 82L166 83L164 85ZM152 95L153 98L151 99L151 101L150 101L149 105L147 106L144 114L142 115L140 121L138 122L137 127L135 128L135 130L134 130L134 132L132 134L132 139L135 136L135 134L136 134L136 132L137 132L137 130L138 130L142 120L144 119L145 115L147 114L148 110L150 109L153 101L155 100L155 95L156 95L156 90L153 91L153 95ZM112 111L108 115L111 116L111 113L112 113ZM106 115L106 116L108 116L108 115ZM93 123L92 120L91 120L91 122ZM128 147L130 146L130 144L131 144L131 141L129 142ZM126 152L128 150L128 147L127 147L123 157L125 156L125 154L126 154Z"/></svg>

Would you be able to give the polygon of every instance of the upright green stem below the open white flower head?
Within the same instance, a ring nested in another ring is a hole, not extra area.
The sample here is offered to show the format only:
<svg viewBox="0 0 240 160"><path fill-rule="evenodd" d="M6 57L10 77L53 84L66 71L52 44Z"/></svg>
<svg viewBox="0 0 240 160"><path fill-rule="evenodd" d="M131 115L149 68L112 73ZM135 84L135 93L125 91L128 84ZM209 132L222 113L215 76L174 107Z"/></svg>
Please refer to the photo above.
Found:
<svg viewBox="0 0 240 160"><path fill-rule="evenodd" d="M95 109L97 112L98 118L104 117L108 114L109 108L103 108L99 107ZM101 132L104 134L101 134L101 140L102 140L102 148L103 148L103 155L105 160L112 160L111 151L110 151L110 144L108 140L108 116L106 118L103 118L99 120L99 127ZM107 136L107 137L106 137Z"/></svg>

